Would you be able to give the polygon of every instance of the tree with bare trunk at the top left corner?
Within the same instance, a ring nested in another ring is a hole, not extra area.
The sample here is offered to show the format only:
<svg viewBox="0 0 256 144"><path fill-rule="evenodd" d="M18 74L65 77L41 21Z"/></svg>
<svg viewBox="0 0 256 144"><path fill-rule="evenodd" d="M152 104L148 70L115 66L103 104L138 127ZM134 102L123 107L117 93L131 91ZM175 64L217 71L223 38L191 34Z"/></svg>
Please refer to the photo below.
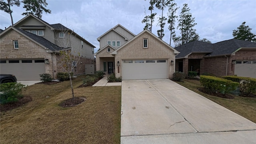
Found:
<svg viewBox="0 0 256 144"><path fill-rule="evenodd" d="M10 14L12 25L13 25L13 19L12 19L12 9L11 6L16 5L20 6L19 0L7 0L7 2L4 2L4 0L0 0L0 10L3 10L4 12L7 12Z"/></svg>

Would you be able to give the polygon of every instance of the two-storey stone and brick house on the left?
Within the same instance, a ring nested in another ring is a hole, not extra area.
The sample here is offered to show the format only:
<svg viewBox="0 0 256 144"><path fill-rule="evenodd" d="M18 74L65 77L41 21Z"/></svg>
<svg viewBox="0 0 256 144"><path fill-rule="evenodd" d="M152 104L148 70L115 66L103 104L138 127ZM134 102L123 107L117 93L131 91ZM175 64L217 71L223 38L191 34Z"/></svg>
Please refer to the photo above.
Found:
<svg viewBox="0 0 256 144"><path fill-rule="evenodd" d="M56 79L56 74L63 72L60 50L72 50L76 59L80 54L73 72L84 74L86 65L95 64L94 48L62 24L48 24L29 14L0 34L1 74L14 74L19 81L40 80L42 73Z"/></svg>

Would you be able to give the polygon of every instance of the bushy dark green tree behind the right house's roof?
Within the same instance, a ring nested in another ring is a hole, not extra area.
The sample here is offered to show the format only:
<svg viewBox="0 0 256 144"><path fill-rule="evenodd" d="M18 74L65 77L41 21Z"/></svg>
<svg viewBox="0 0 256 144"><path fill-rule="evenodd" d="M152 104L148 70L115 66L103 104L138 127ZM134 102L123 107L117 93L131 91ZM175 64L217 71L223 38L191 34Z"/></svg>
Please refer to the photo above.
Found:
<svg viewBox="0 0 256 144"><path fill-rule="evenodd" d="M245 26L245 23L243 22L237 30L233 30L234 39L256 42L256 35L251 32L252 28Z"/></svg>

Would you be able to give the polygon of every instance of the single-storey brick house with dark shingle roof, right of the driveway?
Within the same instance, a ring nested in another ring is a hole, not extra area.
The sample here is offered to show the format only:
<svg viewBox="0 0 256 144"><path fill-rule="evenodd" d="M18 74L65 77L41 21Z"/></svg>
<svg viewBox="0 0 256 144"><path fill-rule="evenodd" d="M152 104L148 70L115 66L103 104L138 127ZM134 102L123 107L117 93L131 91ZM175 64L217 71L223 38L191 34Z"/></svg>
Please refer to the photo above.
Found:
<svg viewBox="0 0 256 144"><path fill-rule="evenodd" d="M196 71L214 76L238 75L256 78L256 43L225 40L214 44L194 41L177 46L176 71Z"/></svg>

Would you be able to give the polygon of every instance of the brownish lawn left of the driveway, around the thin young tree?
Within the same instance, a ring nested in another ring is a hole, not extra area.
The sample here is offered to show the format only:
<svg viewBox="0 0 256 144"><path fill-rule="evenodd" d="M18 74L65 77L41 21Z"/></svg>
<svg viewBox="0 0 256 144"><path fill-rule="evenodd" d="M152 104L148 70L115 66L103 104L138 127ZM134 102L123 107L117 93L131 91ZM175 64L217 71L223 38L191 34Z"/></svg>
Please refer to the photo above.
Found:
<svg viewBox="0 0 256 144"><path fill-rule="evenodd" d="M58 106L72 98L69 81L28 86L32 102L1 112L0 143L120 144L121 86L77 88L82 77L74 94L86 101L70 108Z"/></svg>

